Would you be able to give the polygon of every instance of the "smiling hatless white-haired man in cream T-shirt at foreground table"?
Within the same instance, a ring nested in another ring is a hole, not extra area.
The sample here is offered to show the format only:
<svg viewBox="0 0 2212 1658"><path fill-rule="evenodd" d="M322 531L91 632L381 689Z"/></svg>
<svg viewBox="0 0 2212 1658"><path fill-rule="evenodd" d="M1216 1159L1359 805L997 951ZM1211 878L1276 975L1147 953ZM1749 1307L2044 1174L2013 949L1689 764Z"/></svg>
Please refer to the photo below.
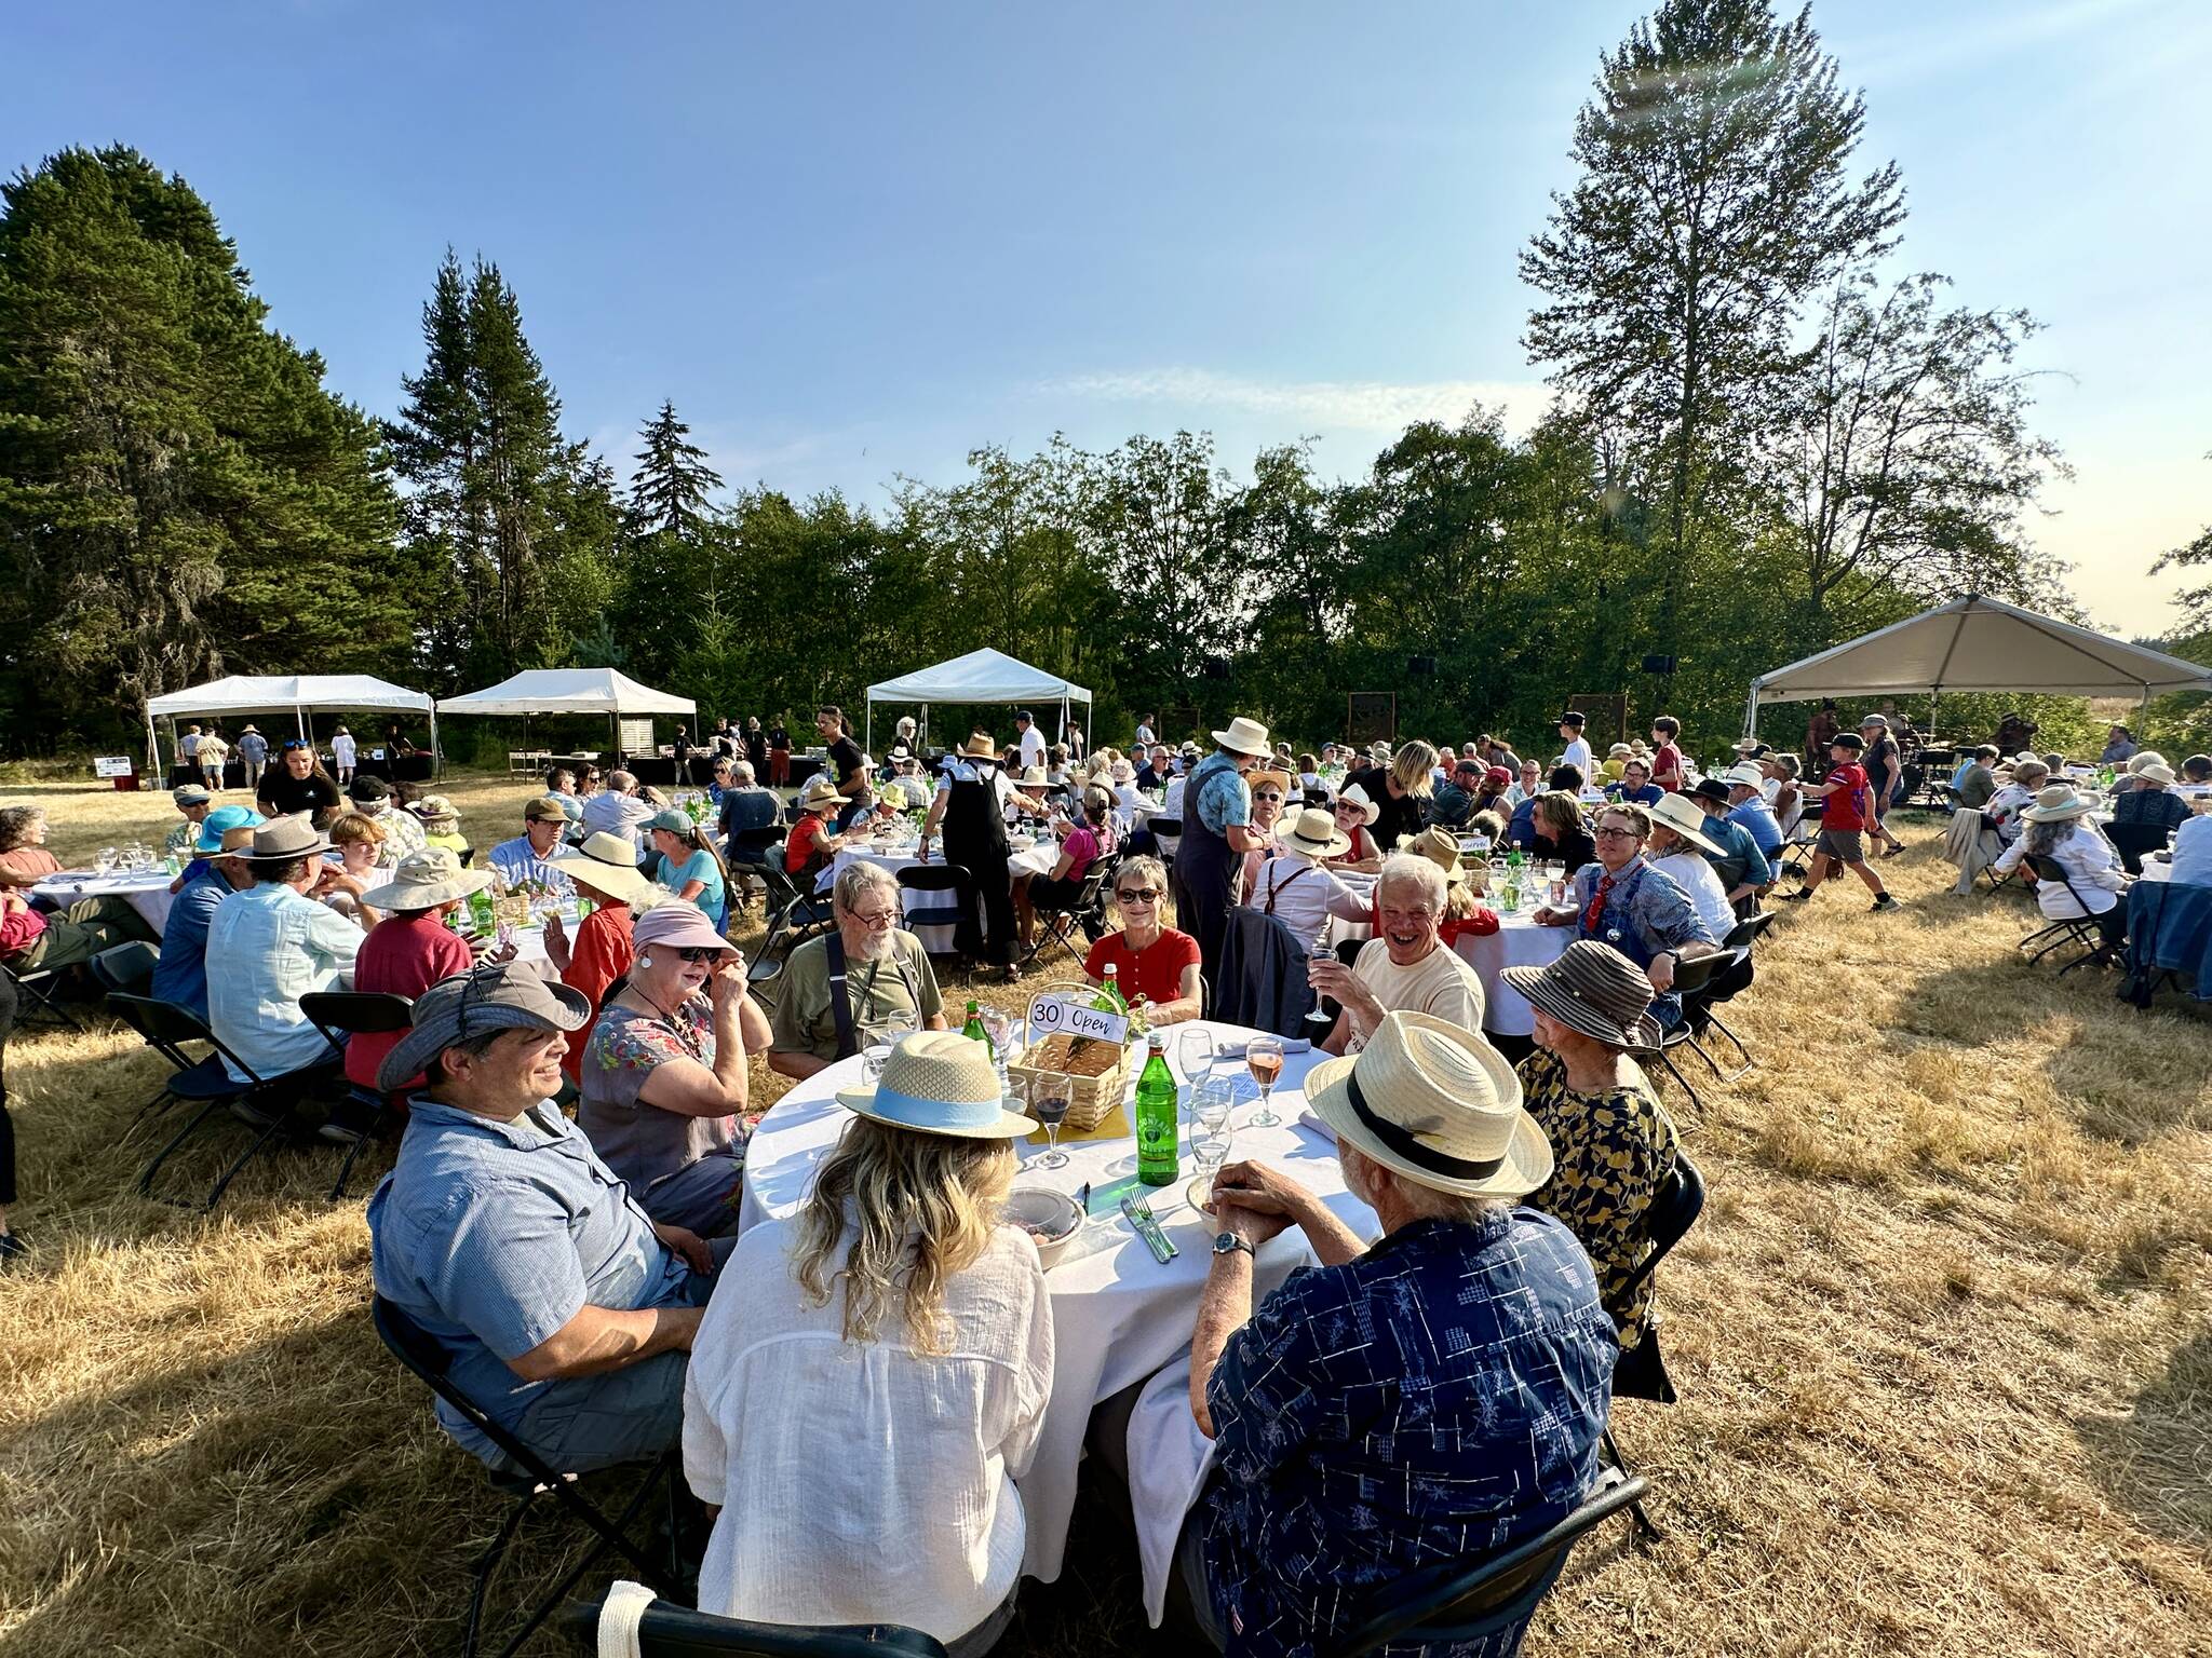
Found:
<svg viewBox="0 0 2212 1658"><path fill-rule="evenodd" d="M1391 1012L1425 1012L1460 1030L1482 1030L1482 979L1444 944L1451 886L1433 860L1398 851L1376 875L1378 931L1345 966L1316 955L1307 977L1318 995L1343 1006L1321 1046L1347 1054L1367 1041Z"/></svg>

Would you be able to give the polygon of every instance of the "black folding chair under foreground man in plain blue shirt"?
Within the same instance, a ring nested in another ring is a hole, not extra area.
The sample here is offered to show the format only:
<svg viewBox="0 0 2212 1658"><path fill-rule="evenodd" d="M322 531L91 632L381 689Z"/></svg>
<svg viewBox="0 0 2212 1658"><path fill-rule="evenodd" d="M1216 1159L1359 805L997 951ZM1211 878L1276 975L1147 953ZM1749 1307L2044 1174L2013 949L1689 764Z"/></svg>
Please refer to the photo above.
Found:
<svg viewBox="0 0 2212 1658"><path fill-rule="evenodd" d="M555 1470L544 1457L515 1439L507 1428L495 1424L484 1415L482 1406L476 1404L467 1393L453 1386L451 1377L451 1355L438 1344L429 1331L416 1324L405 1311L378 1295L369 1309L376 1320L376 1335L383 1340L385 1349L414 1373L414 1377L445 1399L460 1417L476 1428L484 1439L489 1439L502 1457L515 1463L522 1472L500 1472L487 1468L487 1475L495 1490L515 1499L515 1505L507 1512L507 1521L500 1525L500 1534L491 1541L491 1547L476 1559L476 1585L469 1592L469 1629L462 1638L462 1658L476 1658L478 1636L484 1623L484 1596L491 1589L491 1576L500 1570L500 1561L507 1556L509 1543L515 1541L515 1532L522 1525L522 1517L531 1512L531 1505L551 1494L557 1508L566 1508L584 1525L591 1528L597 1543L591 1552L571 1567L571 1572L553 1585L553 1589L531 1607L522 1627L500 1647L500 1658L513 1658L513 1654L526 1643L538 1627L553 1616L560 1603L571 1589L584 1578L584 1574L599 1563L608 1550L617 1552L628 1561L655 1589L670 1589L679 1581L679 1567L672 1561L646 1559L646 1550L630 1541L628 1528L644 1512L646 1501L655 1490L666 1490L670 1497L670 1550L675 1547L675 1477L672 1477L672 1452L653 1463L653 1470L639 1481L637 1492L630 1497L628 1508L622 1510L617 1519L608 1519L606 1512L577 1490L577 1475Z"/></svg>

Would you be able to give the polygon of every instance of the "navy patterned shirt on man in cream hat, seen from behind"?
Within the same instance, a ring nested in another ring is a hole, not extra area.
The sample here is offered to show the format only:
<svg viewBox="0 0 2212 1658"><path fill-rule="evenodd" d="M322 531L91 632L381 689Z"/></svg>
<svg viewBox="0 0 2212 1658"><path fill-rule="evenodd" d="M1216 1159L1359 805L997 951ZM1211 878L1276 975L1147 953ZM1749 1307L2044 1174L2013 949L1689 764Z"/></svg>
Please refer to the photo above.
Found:
<svg viewBox="0 0 2212 1658"><path fill-rule="evenodd" d="M1557 1523L1597 1479L1617 1357L1590 1258L1535 1209L1416 1220L1294 1276L1206 1388L1206 1581L1228 1649L1305 1658L1376 1585ZM1511 1649L1511 1631L1429 1647Z"/></svg>

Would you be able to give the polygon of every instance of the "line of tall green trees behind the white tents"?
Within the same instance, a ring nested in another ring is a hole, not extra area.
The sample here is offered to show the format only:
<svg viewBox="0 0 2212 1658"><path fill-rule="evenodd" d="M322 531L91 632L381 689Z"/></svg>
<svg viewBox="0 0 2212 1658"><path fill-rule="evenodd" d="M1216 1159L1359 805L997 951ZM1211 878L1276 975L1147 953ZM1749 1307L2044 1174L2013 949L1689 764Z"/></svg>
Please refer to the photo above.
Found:
<svg viewBox="0 0 2212 1658"><path fill-rule="evenodd" d="M1666 0L1604 55L1520 254L1533 431L1422 420L1340 480L1296 433L1243 473L1206 431L1055 438L883 508L723 480L672 402L630 455L568 438L484 256L431 274L376 420L184 179L53 155L0 190L0 747L115 743L223 672L617 665L712 718L984 643L1106 730L1234 707L1321 741L1394 692L1407 734L1535 734L1626 692L1712 741L1756 672L1922 604L2068 606L2026 533L2064 471L2035 318L1911 267L1843 73L1770 0Z"/></svg>

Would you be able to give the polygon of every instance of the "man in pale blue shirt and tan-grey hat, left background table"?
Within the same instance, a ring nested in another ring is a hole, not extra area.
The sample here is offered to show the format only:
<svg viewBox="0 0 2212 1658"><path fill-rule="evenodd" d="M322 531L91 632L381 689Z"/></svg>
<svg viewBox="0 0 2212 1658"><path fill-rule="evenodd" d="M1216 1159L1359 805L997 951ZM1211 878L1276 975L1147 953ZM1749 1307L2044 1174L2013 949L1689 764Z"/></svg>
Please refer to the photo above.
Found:
<svg viewBox="0 0 2212 1658"><path fill-rule="evenodd" d="M336 1063L299 999L338 988L361 955L361 928L316 898L367 889L325 864L325 851L330 840L305 816L270 818L246 851L254 884L208 922L208 1028L261 1077Z"/></svg>

